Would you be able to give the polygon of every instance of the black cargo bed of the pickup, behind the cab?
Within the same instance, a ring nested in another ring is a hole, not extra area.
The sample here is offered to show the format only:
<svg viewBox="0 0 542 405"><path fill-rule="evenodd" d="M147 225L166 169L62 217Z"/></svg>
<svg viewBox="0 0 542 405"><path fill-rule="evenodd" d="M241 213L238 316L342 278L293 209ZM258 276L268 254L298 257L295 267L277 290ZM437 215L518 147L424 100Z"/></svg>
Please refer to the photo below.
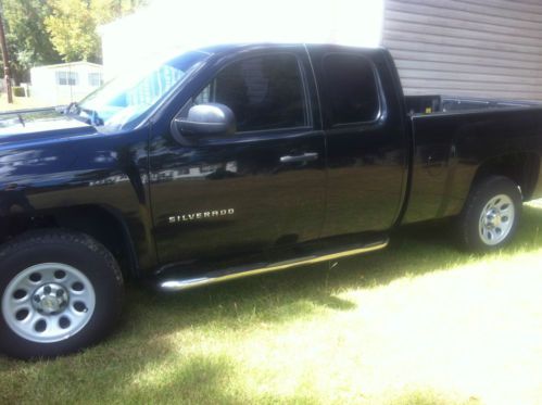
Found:
<svg viewBox="0 0 542 405"><path fill-rule="evenodd" d="M517 167L527 163L540 178L542 103L442 96L407 97L406 103L414 150L404 223L458 214L477 167L493 160L504 169L500 156L516 156ZM542 195L535 180L524 185L525 200Z"/></svg>

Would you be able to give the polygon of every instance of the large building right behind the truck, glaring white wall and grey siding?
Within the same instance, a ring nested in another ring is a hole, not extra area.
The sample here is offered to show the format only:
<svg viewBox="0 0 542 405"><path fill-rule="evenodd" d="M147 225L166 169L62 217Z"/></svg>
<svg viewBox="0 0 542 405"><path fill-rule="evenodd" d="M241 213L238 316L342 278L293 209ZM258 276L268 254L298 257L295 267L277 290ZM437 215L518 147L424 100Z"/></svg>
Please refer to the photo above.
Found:
<svg viewBox="0 0 542 405"><path fill-rule="evenodd" d="M101 27L104 73L210 43L385 46L407 94L542 100L540 0L151 0Z"/></svg>

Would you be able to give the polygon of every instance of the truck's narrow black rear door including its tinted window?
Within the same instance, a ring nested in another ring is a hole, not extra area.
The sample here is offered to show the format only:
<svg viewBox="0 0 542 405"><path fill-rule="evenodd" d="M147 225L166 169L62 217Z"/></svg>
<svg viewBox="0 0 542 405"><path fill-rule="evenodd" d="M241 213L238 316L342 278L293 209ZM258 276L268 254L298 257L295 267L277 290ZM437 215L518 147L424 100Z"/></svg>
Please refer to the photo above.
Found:
<svg viewBox="0 0 542 405"><path fill-rule="evenodd" d="M405 193L407 142L399 83L381 50L310 48L327 139L323 237L389 229Z"/></svg>

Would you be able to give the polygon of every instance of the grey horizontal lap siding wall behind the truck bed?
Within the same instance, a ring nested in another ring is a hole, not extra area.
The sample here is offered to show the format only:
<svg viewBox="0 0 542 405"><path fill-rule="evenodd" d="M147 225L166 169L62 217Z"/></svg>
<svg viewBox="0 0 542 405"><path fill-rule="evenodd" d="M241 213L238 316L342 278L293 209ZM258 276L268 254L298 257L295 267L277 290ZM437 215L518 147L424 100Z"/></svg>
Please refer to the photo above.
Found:
<svg viewBox="0 0 542 405"><path fill-rule="evenodd" d="M386 0L406 94L542 100L542 1Z"/></svg>

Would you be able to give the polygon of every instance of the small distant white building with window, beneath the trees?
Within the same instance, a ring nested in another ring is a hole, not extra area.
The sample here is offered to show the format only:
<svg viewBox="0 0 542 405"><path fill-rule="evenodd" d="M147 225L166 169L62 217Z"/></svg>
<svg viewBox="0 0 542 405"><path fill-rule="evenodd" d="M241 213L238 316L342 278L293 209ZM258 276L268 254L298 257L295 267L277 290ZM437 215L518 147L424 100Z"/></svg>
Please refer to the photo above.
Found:
<svg viewBox="0 0 542 405"><path fill-rule="evenodd" d="M62 63L30 69L31 96L49 105L79 101L103 83L102 65Z"/></svg>

